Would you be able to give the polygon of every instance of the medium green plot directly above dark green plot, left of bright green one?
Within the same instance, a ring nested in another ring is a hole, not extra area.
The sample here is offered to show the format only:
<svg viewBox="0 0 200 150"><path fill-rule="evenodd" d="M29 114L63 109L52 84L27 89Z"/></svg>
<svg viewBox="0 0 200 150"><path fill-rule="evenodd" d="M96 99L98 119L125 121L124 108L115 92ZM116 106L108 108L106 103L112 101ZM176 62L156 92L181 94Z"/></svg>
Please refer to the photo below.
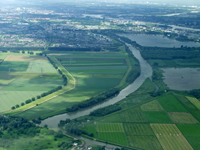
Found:
<svg viewBox="0 0 200 150"><path fill-rule="evenodd" d="M122 122L147 122L139 107L120 112Z"/></svg>

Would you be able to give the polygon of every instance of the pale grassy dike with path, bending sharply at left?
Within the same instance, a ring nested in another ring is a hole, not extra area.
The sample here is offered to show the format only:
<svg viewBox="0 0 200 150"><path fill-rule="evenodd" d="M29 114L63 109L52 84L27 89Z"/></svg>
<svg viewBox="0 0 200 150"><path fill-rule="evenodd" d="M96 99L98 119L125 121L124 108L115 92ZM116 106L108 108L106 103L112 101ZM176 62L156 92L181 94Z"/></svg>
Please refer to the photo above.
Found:
<svg viewBox="0 0 200 150"><path fill-rule="evenodd" d="M56 60L57 62L58 62L58 60L55 58L55 57L53 57L54 58L54 60ZM55 97L57 97L57 96L59 96L59 95L62 95L62 94L64 94L64 93L66 93L66 92L69 92L69 91L71 91L71 90L73 90L75 87L76 87L76 79L58 62L58 64L70 75L70 77L74 80L74 83L73 83L73 87L72 88L70 88L70 89L67 89L66 91L63 91L62 93L59 93L59 94L57 94L57 95L54 95L54 96L52 96L52 97L50 97L50 98L48 98L48 99L46 99L46 100L44 100L44 101L41 101L40 103L37 103L37 100L36 101L34 101L34 102L32 102L32 103L30 103L30 107L28 107L28 108L26 108L26 109L22 109L22 110L8 110L8 111L4 111L4 112L0 112L0 115L1 114L5 114L5 113L13 113L13 115L15 115L15 114L19 114L19 113L22 113L22 112L25 112L25 111L27 111L27 110L29 110L29 109L31 109L31 108L33 108L33 107L36 107L36 104L42 104L42 103L44 103L44 102L47 102L47 101L49 101L49 100L51 100L51 99L53 99L53 98L55 98ZM61 67L59 67L60 69L61 69ZM62 70L62 69L61 69ZM65 73L64 73L65 74ZM65 74L66 75L66 74ZM66 75L67 76L67 75ZM68 78L69 79L69 78ZM66 87L68 87L69 86L69 84L66 86ZM62 89L61 89L62 90ZM59 92L59 91L57 91L57 92ZM52 94L54 94L54 93L52 93ZM51 95L51 94L50 94ZM47 95L47 96L49 96L49 95ZM45 99L45 97L44 97L44 99ZM26 106L26 105L25 105ZM19 112L18 112L19 111Z"/></svg>

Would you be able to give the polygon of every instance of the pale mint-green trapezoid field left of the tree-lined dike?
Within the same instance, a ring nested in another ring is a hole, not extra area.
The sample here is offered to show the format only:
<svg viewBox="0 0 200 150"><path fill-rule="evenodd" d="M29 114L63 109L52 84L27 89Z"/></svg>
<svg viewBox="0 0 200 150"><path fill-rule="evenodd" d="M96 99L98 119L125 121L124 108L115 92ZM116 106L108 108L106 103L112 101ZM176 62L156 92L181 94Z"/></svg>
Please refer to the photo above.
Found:
<svg viewBox="0 0 200 150"><path fill-rule="evenodd" d="M48 61L31 61L26 72L57 73L57 70Z"/></svg>

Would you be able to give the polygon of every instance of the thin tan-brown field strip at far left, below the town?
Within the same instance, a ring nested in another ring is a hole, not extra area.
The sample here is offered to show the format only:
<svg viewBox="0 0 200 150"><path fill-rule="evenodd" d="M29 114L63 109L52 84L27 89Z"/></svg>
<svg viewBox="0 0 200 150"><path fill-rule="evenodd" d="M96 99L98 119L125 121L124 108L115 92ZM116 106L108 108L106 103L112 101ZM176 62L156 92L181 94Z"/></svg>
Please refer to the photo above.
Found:
<svg viewBox="0 0 200 150"><path fill-rule="evenodd" d="M45 57L29 57L22 55L8 55L4 61L48 61Z"/></svg>

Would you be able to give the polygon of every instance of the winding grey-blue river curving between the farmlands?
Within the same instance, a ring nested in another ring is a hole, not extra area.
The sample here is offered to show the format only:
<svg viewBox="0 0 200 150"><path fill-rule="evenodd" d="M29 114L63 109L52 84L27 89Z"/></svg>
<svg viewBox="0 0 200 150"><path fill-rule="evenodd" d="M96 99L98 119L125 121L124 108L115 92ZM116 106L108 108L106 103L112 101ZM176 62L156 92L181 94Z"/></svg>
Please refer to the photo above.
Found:
<svg viewBox="0 0 200 150"><path fill-rule="evenodd" d="M104 103L101 103L99 105L95 105L86 109L81 109L77 112L72 112L72 113L65 113L57 116L53 116L50 118L47 118L42 121L41 125L48 125L49 128L57 130L58 129L58 123L60 120L65 120L65 119L75 119L81 116L89 115L91 111L94 111L96 109L106 107L108 105L115 104L119 102L120 100L126 98L129 94L133 93L136 91L147 78L151 78L153 70L149 63L144 60L140 54L140 51L132 47L130 44L126 44L129 49L132 51L133 55L139 60L140 63L140 68L141 68L141 73L140 76L130 85L128 85L126 88L120 91L120 93L116 96L111 98L108 101L105 101Z"/></svg>

